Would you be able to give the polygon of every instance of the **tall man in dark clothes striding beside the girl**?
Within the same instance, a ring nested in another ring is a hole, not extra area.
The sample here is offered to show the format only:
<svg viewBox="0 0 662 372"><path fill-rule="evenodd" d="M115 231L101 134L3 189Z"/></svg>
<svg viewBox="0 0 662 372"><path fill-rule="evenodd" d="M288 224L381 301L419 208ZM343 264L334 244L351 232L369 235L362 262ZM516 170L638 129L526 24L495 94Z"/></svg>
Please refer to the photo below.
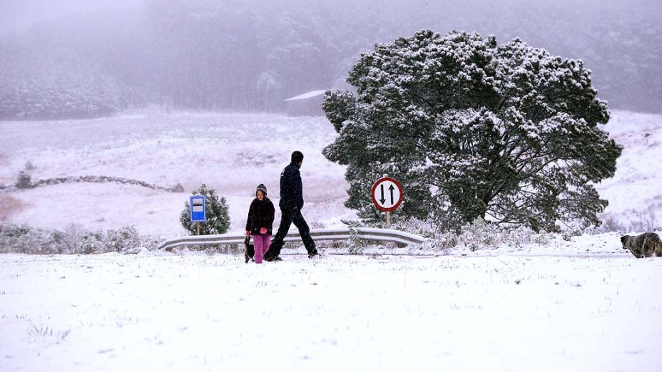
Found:
<svg viewBox="0 0 662 372"><path fill-rule="evenodd" d="M315 242L310 237L310 228L303 215L301 215L303 186L299 169L302 163L303 154L300 151L295 151L292 153L290 165L287 165L280 172L280 203L278 203L280 207L280 226L275 237L271 239L271 245L267 254L265 254L266 261L282 261L279 257L280 249L292 223L299 229L303 245L308 251L308 257L317 256Z"/></svg>

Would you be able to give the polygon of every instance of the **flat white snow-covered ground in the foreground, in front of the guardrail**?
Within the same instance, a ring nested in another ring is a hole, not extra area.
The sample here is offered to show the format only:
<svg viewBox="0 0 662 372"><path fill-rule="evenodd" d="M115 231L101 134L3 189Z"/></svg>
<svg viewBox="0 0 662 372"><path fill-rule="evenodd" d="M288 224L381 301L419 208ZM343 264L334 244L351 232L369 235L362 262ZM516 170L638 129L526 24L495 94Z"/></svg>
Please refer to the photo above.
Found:
<svg viewBox="0 0 662 372"><path fill-rule="evenodd" d="M1 371L661 371L661 259L0 257Z"/></svg>

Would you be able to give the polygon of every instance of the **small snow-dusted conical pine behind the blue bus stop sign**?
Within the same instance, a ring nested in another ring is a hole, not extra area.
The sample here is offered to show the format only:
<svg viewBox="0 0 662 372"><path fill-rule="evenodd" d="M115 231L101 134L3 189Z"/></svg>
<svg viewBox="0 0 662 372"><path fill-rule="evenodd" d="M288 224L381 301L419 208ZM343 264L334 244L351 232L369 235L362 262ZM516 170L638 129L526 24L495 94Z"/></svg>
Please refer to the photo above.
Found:
<svg viewBox="0 0 662 372"><path fill-rule="evenodd" d="M206 199L205 212L207 221L200 222L200 234L225 234L230 227L230 216L228 215L228 205L225 197L219 197L216 189L208 189L203 184L198 190L193 190L193 195L203 195ZM185 202L185 209L179 217L182 226L191 232L197 234L198 229L195 222L190 220L190 205Z"/></svg>

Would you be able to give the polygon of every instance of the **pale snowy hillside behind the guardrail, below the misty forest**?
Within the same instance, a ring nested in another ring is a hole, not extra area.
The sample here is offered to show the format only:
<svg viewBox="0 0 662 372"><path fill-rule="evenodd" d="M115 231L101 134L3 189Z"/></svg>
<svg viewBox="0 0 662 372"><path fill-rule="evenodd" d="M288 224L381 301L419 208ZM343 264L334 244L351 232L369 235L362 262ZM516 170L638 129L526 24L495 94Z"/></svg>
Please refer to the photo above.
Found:
<svg viewBox="0 0 662 372"><path fill-rule="evenodd" d="M190 191L215 187L230 206L231 231L240 231L255 187L264 183L277 202L280 170L292 150L305 154L305 208L312 227L337 227L355 217L343 207L344 168L322 148L336 133L325 118L270 114L173 113L146 110L96 120L0 122L0 219L65 230L135 225L141 234L185 234L178 217ZM659 229L662 206L662 115L616 111L606 130L623 145L616 177L598 185L609 200L604 219L618 229ZM117 183L65 183L16 190L19 172L32 182L98 175L183 185L185 192ZM278 218L278 214L277 214Z"/></svg>

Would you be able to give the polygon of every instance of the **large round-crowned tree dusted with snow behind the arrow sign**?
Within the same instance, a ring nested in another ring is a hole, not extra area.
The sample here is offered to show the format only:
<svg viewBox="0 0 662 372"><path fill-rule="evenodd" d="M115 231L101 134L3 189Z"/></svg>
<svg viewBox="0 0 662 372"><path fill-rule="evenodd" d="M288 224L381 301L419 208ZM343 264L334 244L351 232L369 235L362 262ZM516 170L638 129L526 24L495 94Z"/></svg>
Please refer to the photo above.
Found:
<svg viewBox="0 0 662 372"><path fill-rule="evenodd" d="M375 217L372 183L404 187L399 214L454 229L482 217L539 230L599 225L608 204L594 183L613 176L621 148L582 61L519 39L419 31L376 44L350 70L356 95L323 107L340 136L325 148L347 165L347 207Z"/></svg>

